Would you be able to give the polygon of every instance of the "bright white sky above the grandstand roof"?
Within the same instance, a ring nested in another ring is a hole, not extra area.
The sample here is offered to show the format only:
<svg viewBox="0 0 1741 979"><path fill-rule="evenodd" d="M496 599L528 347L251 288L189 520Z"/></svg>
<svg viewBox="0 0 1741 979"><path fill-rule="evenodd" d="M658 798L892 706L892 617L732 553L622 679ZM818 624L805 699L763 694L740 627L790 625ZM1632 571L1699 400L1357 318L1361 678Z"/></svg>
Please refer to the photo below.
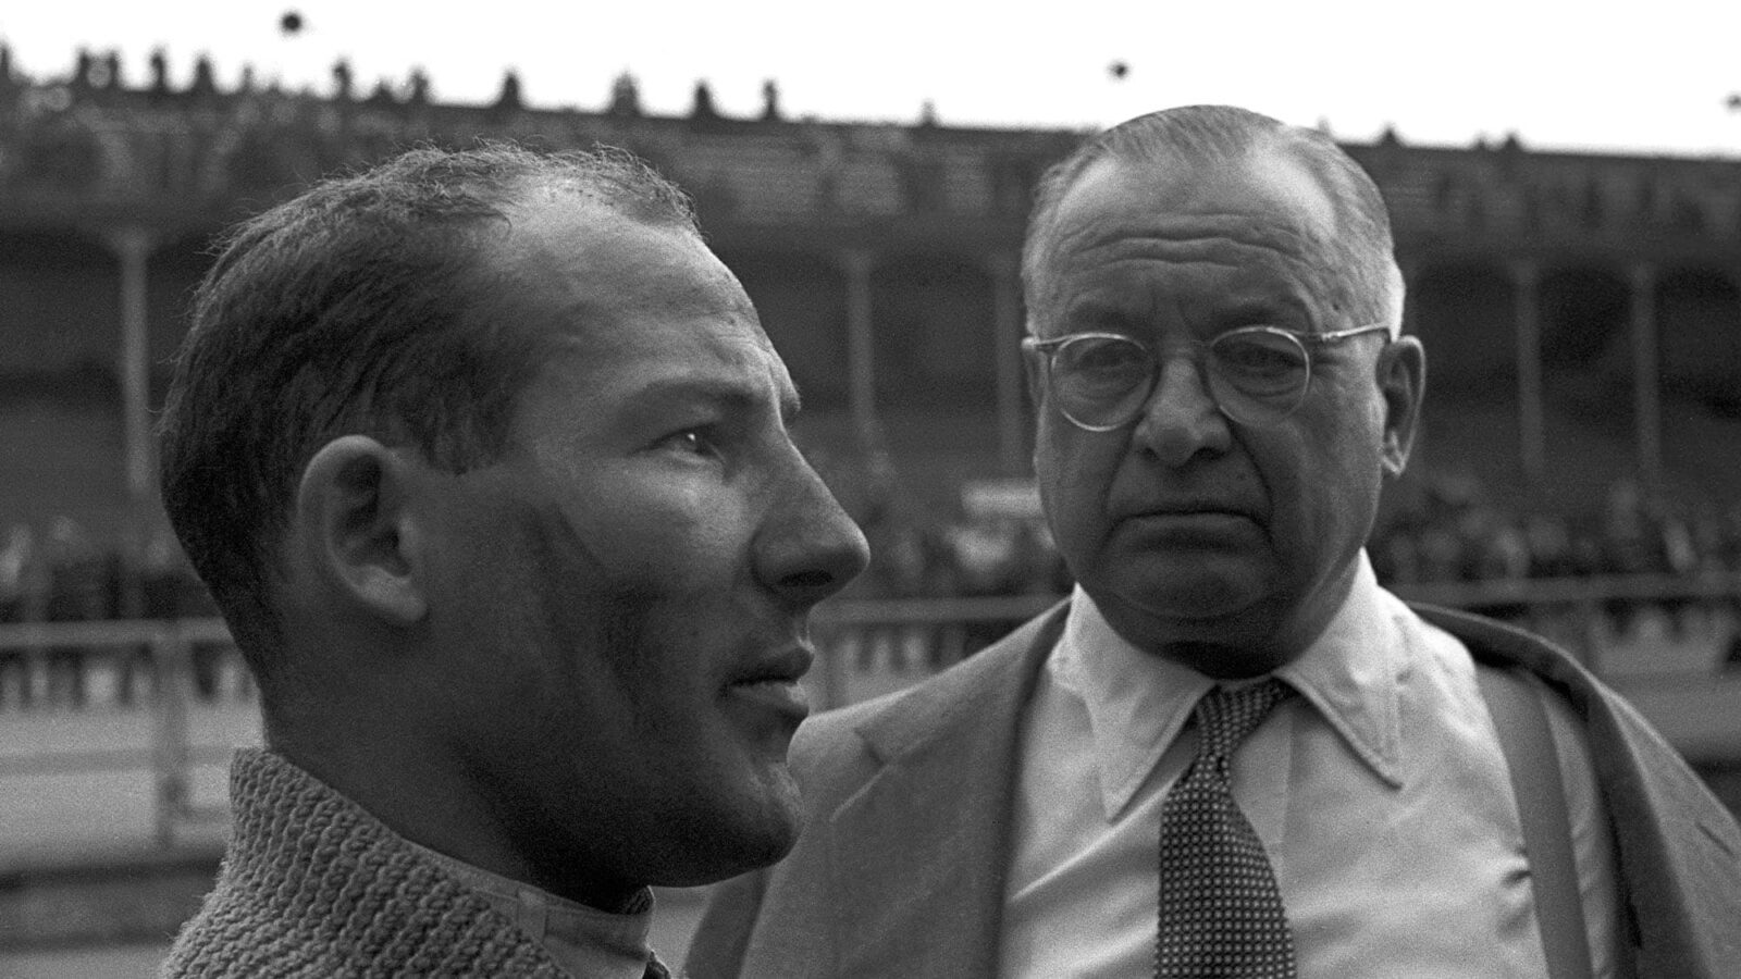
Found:
<svg viewBox="0 0 1741 979"><path fill-rule="evenodd" d="M789 117L1099 127L1153 108L1233 103L1348 139L1516 131L1556 150L1741 159L1738 0L9 0L0 38L38 78L77 47L120 49L134 85L155 47L185 85L211 54L230 87L362 92L425 68L442 101L494 98L507 68L534 106L601 108L632 71L642 105L682 113L707 78L728 115L780 84ZM286 37L279 17L303 14ZM451 12L447 12L451 10ZM1125 80L1109 66L1128 64Z"/></svg>

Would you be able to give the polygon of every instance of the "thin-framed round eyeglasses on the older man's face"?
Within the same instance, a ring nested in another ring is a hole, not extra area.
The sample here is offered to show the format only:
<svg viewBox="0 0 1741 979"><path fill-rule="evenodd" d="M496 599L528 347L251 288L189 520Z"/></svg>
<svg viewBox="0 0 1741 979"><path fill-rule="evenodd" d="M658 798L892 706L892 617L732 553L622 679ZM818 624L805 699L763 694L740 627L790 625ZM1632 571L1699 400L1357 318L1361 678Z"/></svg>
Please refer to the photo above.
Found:
<svg viewBox="0 0 1741 979"><path fill-rule="evenodd" d="M1367 333L1389 331L1374 322L1335 333L1299 333L1280 326L1229 329L1208 341L1198 361L1215 408L1257 429L1276 425L1306 401L1311 348ZM1059 411L1078 429L1111 432L1128 425L1154 394L1161 361L1142 341L1121 333L1071 333L1052 340L1029 336L1022 350L1043 357L1046 388Z"/></svg>

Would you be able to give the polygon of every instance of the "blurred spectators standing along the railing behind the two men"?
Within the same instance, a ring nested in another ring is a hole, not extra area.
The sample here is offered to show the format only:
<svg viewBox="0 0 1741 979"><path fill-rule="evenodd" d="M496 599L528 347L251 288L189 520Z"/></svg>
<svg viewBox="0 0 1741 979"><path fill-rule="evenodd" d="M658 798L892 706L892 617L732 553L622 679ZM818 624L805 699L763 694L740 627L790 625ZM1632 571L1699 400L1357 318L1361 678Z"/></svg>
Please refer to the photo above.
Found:
<svg viewBox="0 0 1741 979"><path fill-rule="evenodd" d="M855 514L870 538L872 563L844 599L947 599L1057 596L1071 578L1045 523L1008 512L937 516L893 495L872 493ZM860 495L864 502L864 496ZM1593 575L1741 575L1741 505L1670 500L1616 483L1584 517L1529 512L1499 500L1468 477L1431 479L1395 507L1368 545L1379 578L1393 585L1577 578ZM1640 611L1722 606L1741 613L1741 596L1697 603L1610 599L1603 613L1624 632ZM1649 608L1645 608L1649 606ZM1496 606L1497 615L1523 613ZM205 587L167 531L136 547L101 542L77 521L57 517L45 528L14 523L0 538L0 624L92 622L129 618L200 618L216 615ZM1010 622L1025 617L1013 613ZM996 639L1003 618L951 625L945 653L926 641L926 658L952 660ZM886 645L886 643L879 643ZM1736 643L1741 646L1741 641ZM0 643L0 709L78 706L87 699L91 667L108 671L111 697L136 700L150 681L146 648L97 650L57 646L45 652ZM872 652L864 645L864 655ZM193 650L193 692L216 695L225 669L237 671L226 648ZM1731 658L1741 650L1731 652ZM940 662L942 662L940 660Z"/></svg>

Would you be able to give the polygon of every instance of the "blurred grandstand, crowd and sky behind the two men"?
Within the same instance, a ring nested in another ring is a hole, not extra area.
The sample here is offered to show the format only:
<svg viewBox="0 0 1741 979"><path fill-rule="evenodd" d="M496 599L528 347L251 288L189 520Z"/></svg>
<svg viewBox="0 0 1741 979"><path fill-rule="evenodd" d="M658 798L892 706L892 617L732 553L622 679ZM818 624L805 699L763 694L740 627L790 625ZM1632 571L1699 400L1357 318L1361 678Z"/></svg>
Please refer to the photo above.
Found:
<svg viewBox="0 0 1741 979"><path fill-rule="evenodd" d="M1045 167L1168 105L1325 127L1431 364L1381 577L1560 639L1741 807L1738 12L64 7L0 17L0 976L148 974L211 885L259 733L153 409L211 235L414 143L611 143L695 195L876 554L818 611L837 706L1069 587L1017 350ZM700 901L662 894L669 960Z"/></svg>

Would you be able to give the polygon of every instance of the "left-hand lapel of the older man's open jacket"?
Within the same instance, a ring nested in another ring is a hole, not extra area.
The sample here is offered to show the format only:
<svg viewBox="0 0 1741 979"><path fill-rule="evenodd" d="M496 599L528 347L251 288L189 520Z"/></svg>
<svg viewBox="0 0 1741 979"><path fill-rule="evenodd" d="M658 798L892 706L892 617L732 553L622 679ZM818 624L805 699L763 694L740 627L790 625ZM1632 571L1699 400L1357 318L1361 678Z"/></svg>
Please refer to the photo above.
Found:
<svg viewBox="0 0 1741 979"><path fill-rule="evenodd" d="M1020 719L1065 608L860 725L883 770L829 820L839 976L994 974Z"/></svg>

